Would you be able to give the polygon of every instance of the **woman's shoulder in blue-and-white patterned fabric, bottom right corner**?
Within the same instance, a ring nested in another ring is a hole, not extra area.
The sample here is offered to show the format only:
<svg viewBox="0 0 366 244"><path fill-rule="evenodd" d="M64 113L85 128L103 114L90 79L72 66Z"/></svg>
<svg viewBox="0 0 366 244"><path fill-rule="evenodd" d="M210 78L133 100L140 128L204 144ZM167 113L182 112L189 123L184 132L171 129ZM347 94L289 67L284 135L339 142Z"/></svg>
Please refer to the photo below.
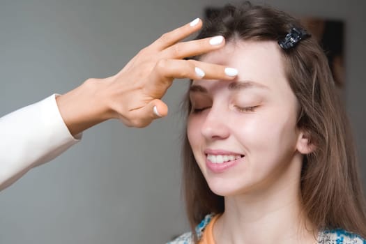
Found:
<svg viewBox="0 0 366 244"><path fill-rule="evenodd" d="M319 244L366 244L366 240L344 229L321 231L318 237Z"/></svg>

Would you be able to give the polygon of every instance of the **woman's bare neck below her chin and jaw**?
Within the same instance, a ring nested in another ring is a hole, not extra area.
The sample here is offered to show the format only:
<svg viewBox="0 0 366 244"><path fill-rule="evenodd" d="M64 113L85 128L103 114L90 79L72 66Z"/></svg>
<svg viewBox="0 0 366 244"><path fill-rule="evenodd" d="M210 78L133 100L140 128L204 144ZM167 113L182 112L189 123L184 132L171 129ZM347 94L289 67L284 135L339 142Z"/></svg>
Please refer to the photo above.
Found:
<svg viewBox="0 0 366 244"><path fill-rule="evenodd" d="M213 237L216 244L316 243L317 231L312 231L302 209L296 178L277 182L265 192L225 197Z"/></svg>

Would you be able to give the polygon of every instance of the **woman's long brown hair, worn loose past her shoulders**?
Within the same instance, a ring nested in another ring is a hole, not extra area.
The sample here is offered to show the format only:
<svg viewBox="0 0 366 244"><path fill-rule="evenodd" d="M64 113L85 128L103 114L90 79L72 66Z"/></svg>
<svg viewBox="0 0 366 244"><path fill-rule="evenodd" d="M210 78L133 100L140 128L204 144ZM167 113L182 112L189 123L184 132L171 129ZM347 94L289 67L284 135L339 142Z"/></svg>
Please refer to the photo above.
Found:
<svg viewBox="0 0 366 244"><path fill-rule="evenodd" d="M222 35L227 42L277 42L293 26L303 28L286 13L268 6L252 6L246 1L238 6L224 6L205 20L197 39ZM366 238L366 205L356 151L328 60L314 38L281 52L284 71L300 105L297 126L307 133L314 146L312 153L304 155L300 175L303 211L319 230L342 228ZM188 96L185 105L189 114ZM224 197L208 188L186 133L182 153L186 208L195 233L195 226L206 214L224 212Z"/></svg>

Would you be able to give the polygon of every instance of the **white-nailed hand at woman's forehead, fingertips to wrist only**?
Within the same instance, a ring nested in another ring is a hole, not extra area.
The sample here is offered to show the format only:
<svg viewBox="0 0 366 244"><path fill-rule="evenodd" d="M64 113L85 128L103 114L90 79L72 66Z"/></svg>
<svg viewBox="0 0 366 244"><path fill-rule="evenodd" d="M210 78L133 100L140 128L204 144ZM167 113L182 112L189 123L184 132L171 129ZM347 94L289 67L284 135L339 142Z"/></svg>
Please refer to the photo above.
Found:
<svg viewBox="0 0 366 244"><path fill-rule="evenodd" d="M163 34L111 78L110 89L116 91L112 102L116 118L125 125L141 128L153 119L166 116L168 107L160 98L175 78L233 78L225 74L223 66L183 60L224 45L221 36L178 43L199 30L201 25L201 20L197 19Z"/></svg>

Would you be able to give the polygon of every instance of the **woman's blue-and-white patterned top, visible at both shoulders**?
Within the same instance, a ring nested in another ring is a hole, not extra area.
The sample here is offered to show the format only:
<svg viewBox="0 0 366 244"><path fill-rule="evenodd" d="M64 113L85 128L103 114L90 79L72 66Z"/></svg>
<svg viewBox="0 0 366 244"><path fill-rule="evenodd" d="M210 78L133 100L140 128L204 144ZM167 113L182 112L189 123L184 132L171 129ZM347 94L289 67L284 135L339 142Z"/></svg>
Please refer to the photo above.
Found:
<svg viewBox="0 0 366 244"><path fill-rule="evenodd" d="M207 224L212 220L213 214L206 215L204 220L202 220L196 227L195 231L197 237L201 238L204 233L204 229ZM366 240L363 239L358 234L353 234L344 229L334 229L319 232L317 243L319 244L366 244ZM174 241L170 241L167 244L194 244L191 232L187 232Z"/></svg>

